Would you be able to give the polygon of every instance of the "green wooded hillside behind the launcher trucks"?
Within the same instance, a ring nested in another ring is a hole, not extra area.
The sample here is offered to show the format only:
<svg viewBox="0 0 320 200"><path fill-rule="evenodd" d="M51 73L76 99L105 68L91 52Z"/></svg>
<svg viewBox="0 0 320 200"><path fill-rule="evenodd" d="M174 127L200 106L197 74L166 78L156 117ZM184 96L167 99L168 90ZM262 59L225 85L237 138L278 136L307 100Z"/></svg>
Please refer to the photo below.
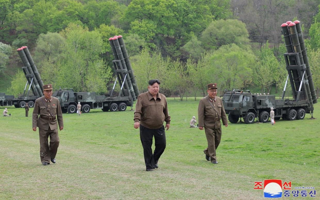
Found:
<svg viewBox="0 0 320 200"><path fill-rule="evenodd" d="M320 0L0 0L0 92L23 93L16 52L28 46L44 83L107 94L115 80L108 39L123 35L140 92L206 94L206 84L281 93L281 24L300 20L320 92ZM118 86L119 87L119 86ZM252 92L252 93L253 93Z"/></svg>

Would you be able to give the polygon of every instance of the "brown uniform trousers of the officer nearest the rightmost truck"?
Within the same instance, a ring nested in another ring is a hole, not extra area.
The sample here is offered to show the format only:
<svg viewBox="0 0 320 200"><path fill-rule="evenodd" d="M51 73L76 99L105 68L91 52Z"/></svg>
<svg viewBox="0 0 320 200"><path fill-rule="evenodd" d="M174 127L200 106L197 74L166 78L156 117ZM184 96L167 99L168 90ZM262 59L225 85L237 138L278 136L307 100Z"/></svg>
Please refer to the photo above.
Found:
<svg viewBox="0 0 320 200"><path fill-rule="evenodd" d="M211 162L217 161L216 149L221 140L221 128L211 129L204 127L204 131L208 141L208 148L204 150L204 153L205 155L210 156Z"/></svg>

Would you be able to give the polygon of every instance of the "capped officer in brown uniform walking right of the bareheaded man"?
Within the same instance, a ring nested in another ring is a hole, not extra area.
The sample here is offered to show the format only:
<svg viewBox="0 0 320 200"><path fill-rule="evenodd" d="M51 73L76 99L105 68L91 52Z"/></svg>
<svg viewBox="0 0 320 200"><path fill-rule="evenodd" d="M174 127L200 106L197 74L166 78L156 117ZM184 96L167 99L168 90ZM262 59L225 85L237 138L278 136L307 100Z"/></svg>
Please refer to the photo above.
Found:
<svg viewBox="0 0 320 200"><path fill-rule="evenodd" d="M216 149L221 140L221 123L228 126L226 112L220 97L217 97L217 84L211 83L207 85L208 96L202 98L198 107L198 123L199 129L205 131L208 141L208 147L204 150L205 158L211 160L213 164L217 164Z"/></svg>

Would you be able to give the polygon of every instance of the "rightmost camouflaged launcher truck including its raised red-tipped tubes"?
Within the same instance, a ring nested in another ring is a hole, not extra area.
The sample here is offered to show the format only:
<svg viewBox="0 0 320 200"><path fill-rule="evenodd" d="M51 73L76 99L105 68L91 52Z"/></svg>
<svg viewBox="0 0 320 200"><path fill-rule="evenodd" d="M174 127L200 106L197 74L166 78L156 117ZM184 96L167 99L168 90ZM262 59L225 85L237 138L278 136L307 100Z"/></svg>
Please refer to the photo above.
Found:
<svg viewBox="0 0 320 200"><path fill-rule="evenodd" d="M274 95L252 95L250 91L225 91L222 102L231 123L237 123L240 117L245 123L253 123L255 117L258 117L259 122L268 122L271 107L274 108L276 120L280 117L299 120L303 119L306 113L311 113L313 118L313 104L317 103L317 98L300 21L288 21L282 24L281 28L287 49L284 59L288 71L282 99L276 99ZM288 80L293 100L284 100Z"/></svg>

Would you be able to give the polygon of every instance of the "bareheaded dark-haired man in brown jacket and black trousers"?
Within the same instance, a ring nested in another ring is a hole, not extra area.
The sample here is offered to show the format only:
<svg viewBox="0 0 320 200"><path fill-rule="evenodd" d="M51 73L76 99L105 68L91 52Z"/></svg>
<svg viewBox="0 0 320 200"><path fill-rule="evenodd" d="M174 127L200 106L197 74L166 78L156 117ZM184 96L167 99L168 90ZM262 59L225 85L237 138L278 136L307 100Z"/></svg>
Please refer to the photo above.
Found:
<svg viewBox="0 0 320 200"><path fill-rule="evenodd" d="M166 145L163 122L165 121L165 128L168 130L171 121L167 100L159 93L159 85L158 79L149 80L148 92L138 96L134 112L134 128L140 127L146 171L158 168L158 160ZM155 137L155 151L152 154L153 137Z"/></svg>

